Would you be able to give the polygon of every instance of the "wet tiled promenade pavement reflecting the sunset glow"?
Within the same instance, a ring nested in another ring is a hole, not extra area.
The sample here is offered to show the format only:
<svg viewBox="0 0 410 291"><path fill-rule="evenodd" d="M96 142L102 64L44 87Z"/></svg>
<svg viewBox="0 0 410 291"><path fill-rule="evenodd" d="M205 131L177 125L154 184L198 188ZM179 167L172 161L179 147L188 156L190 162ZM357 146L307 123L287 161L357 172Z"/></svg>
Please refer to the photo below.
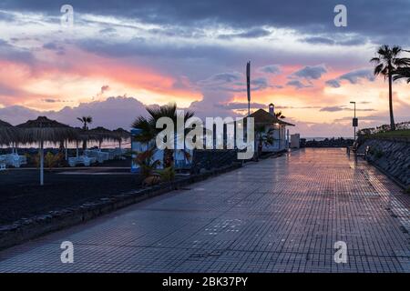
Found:
<svg viewBox="0 0 410 291"><path fill-rule="evenodd" d="M343 149L306 149L7 249L0 271L410 272L409 209ZM60 261L63 241L74 264Z"/></svg>

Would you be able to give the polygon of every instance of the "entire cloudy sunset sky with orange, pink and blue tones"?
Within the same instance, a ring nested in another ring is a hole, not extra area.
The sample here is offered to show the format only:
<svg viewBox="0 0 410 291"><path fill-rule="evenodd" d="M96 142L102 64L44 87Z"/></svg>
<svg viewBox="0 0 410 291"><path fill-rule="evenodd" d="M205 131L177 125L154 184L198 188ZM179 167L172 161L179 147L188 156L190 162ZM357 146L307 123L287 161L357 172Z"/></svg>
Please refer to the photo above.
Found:
<svg viewBox="0 0 410 291"><path fill-rule="evenodd" d="M61 6L74 8L61 24ZM347 26L333 23L335 5ZM0 119L46 115L69 125L129 128L146 106L176 102L200 117L270 103L302 136L351 136L388 122L388 86L374 77L379 45L410 49L410 1L2 0ZM403 55L405 56L405 54ZM396 122L410 85L395 82Z"/></svg>

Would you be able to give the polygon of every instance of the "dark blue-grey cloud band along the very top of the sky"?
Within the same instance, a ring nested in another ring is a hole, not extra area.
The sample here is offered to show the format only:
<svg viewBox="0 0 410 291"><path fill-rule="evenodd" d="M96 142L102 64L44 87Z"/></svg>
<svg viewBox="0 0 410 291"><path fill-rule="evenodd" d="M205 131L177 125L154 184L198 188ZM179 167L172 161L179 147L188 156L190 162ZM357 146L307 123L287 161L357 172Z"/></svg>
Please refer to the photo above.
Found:
<svg viewBox="0 0 410 291"><path fill-rule="evenodd" d="M59 15L66 1L5 0L0 9ZM71 0L75 12L132 18L158 25L229 25L241 29L270 25L306 32L374 35L376 41L409 43L410 2L407 0L348 0L347 27L333 25L333 8L339 0ZM401 37L399 37L401 36Z"/></svg>

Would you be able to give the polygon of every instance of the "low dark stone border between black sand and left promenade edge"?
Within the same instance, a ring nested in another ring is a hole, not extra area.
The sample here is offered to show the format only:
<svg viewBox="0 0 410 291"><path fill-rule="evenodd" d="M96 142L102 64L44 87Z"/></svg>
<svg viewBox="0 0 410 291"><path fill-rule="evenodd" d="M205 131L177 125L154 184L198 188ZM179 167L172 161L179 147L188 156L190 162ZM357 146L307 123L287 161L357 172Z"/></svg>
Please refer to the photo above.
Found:
<svg viewBox="0 0 410 291"><path fill-rule="evenodd" d="M68 226L79 225L98 216L108 214L126 206L131 206L154 196L160 196L170 191L178 190L183 186L203 181L211 176L218 176L230 172L241 166L239 163L224 166L198 175L183 177L178 181L150 186L118 196L100 198L96 202L83 204L81 206L51 211L48 215L20 219L12 225L0 226L0 250L24 243L38 236L44 236Z"/></svg>

